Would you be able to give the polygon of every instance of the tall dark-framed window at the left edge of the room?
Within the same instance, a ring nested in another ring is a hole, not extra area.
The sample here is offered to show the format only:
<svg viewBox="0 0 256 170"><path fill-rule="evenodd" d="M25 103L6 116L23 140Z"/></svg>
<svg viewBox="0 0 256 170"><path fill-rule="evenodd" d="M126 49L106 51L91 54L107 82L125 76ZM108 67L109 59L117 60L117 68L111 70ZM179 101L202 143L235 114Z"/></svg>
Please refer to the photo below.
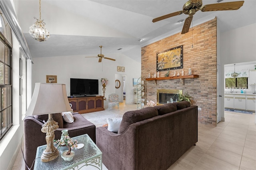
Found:
<svg viewBox="0 0 256 170"><path fill-rule="evenodd" d="M12 127L11 30L0 15L0 139Z"/></svg>

